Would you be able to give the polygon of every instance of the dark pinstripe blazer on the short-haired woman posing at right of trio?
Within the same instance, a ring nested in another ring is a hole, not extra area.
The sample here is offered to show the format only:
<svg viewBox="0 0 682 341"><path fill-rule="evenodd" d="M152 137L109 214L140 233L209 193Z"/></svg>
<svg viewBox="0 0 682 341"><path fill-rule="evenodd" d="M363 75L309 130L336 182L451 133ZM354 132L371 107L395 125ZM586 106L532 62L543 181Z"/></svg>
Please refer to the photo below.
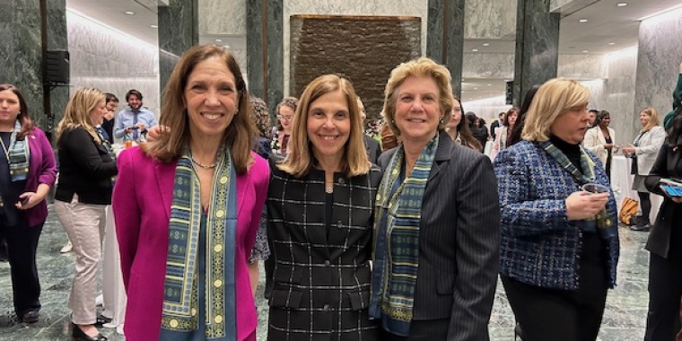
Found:
<svg viewBox="0 0 682 341"><path fill-rule="evenodd" d="M447 340L487 341L500 243L493 167L440 134L422 201L414 319L450 319ZM382 170L396 150L381 154Z"/></svg>

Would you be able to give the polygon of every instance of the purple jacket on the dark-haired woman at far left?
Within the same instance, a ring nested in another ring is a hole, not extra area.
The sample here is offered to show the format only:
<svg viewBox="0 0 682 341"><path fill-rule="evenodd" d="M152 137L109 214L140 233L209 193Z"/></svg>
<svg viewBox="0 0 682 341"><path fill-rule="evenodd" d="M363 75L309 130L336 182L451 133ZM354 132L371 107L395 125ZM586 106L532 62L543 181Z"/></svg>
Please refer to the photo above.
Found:
<svg viewBox="0 0 682 341"><path fill-rule="evenodd" d="M33 132L26 136L31 148L31 160L29 161L29 174L26 178L26 192L35 192L39 184L46 184L50 188L55 185L57 179L57 164L55 151L49 144L39 127L34 127ZM36 226L44 223L48 218L48 201L43 200L26 210L26 223L28 226Z"/></svg>

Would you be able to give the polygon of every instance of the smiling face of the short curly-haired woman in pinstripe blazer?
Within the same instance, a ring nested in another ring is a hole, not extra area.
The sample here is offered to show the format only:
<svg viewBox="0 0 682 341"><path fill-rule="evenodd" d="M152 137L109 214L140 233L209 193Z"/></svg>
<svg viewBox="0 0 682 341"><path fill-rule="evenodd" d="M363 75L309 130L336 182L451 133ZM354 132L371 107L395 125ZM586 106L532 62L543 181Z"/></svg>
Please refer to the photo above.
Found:
<svg viewBox="0 0 682 341"><path fill-rule="evenodd" d="M438 86L431 77L410 76L396 93L394 117L403 143L425 145L436 135L444 116Z"/></svg>

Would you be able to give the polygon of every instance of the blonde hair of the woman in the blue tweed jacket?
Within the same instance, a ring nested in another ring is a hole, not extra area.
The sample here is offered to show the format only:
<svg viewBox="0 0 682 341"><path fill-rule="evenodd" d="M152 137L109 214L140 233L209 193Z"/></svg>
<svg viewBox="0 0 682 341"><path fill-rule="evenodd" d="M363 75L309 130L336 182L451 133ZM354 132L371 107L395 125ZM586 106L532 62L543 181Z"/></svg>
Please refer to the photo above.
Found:
<svg viewBox="0 0 682 341"><path fill-rule="evenodd" d="M554 78L538 88L530 108L521 138L526 141L544 142L549 139L555 119L571 109L588 104L590 89L568 78Z"/></svg>

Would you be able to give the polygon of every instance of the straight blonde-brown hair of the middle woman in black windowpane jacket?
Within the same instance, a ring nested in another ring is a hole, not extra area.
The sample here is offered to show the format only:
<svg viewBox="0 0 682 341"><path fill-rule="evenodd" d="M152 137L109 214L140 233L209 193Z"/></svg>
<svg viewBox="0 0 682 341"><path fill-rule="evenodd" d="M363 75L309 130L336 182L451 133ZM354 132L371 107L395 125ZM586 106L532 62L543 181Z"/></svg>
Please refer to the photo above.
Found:
<svg viewBox="0 0 682 341"><path fill-rule="evenodd" d="M348 178L366 174L371 167L367 152L364 149L363 122L360 116L360 108L357 105L357 95L347 79L336 74L324 74L308 83L303 90L298 102L298 108L293 114L293 127L291 140L289 141L290 153L286 160L279 164L279 169L301 178L308 174L315 166L315 155L312 153L314 146L308 136L308 115L310 105L319 97L329 92L343 92L348 106L348 114L351 120L351 132L345 143L344 156L341 163L342 171Z"/></svg>

